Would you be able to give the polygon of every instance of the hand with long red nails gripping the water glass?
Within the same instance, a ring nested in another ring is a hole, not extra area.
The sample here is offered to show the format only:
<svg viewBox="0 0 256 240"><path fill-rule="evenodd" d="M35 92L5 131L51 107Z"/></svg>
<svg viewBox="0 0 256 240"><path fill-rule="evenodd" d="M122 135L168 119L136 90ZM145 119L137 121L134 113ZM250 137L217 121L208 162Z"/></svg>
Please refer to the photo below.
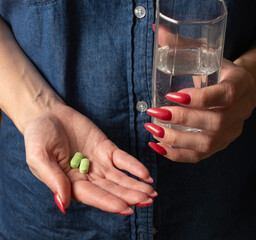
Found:
<svg viewBox="0 0 256 240"><path fill-rule="evenodd" d="M151 116L165 119L163 122L202 131L179 132L146 124L147 130L159 141L158 144L151 143L151 147L173 161L191 163L226 148L241 134L244 120L256 106L255 85L255 79L247 70L224 60L219 84L168 94L169 100L189 108L175 106L148 110Z"/></svg>

